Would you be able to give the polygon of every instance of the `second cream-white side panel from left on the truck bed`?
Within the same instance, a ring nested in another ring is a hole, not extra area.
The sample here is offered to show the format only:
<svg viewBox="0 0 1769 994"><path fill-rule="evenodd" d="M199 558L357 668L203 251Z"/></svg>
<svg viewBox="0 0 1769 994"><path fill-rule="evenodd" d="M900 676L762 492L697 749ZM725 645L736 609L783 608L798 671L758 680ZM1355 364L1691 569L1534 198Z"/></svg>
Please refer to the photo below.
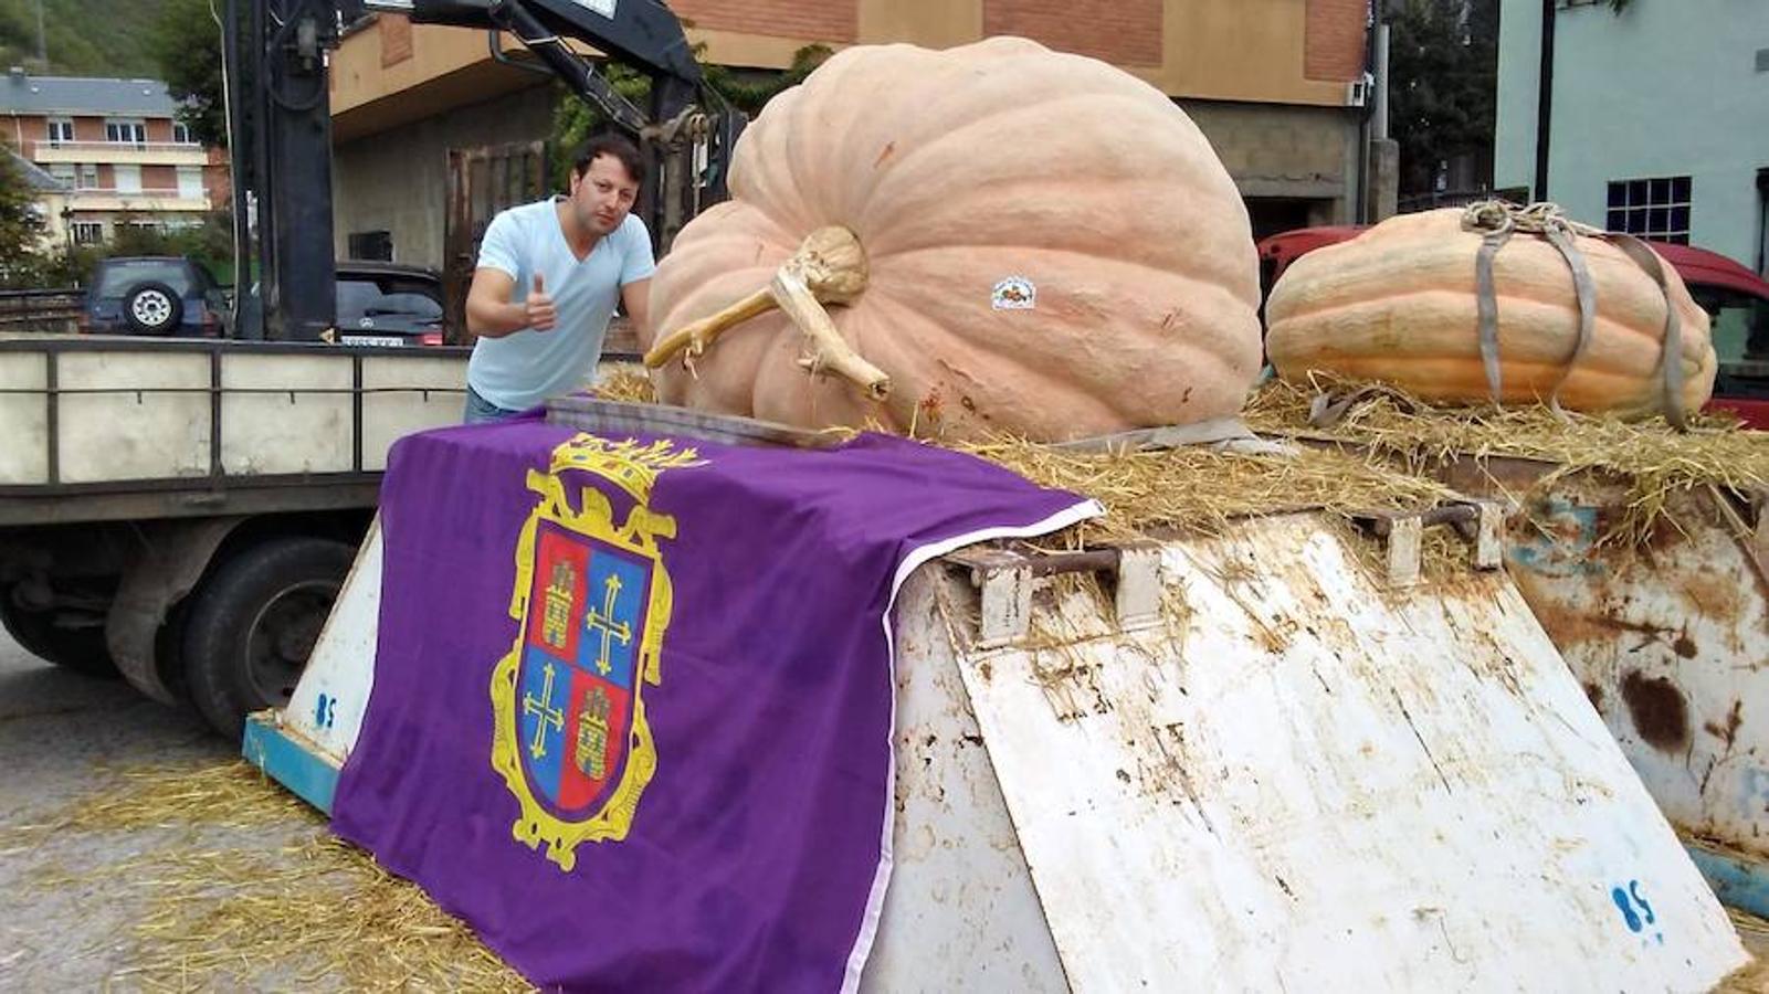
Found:
<svg viewBox="0 0 1769 994"><path fill-rule="evenodd" d="M209 472L209 354L126 348L57 357L62 483Z"/></svg>

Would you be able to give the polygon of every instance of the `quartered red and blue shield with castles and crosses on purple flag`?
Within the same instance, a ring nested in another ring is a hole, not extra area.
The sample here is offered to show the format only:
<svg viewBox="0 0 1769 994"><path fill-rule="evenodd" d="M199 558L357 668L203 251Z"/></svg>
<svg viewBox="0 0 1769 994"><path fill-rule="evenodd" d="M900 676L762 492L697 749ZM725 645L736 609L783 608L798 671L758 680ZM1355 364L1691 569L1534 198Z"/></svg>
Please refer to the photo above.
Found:
<svg viewBox="0 0 1769 994"><path fill-rule="evenodd" d="M639 699L653 561L541 520L517 679L517 752L555 817L594 815L621 782Z"/></svg>

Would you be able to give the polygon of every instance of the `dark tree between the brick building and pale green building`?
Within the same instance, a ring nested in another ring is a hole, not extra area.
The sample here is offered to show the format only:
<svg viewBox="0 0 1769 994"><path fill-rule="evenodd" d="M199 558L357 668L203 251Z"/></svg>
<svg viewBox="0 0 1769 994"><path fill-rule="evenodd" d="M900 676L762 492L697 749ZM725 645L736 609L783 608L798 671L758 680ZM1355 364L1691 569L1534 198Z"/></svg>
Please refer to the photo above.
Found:
<svg viewBox="0 0 1769 994"><path fill-rule="evenodd" d="M1389 127L1401 195L1435 189L1444 163L1474 154L1491 173L1498 0L1401 0L1389 7Z"/></svg>

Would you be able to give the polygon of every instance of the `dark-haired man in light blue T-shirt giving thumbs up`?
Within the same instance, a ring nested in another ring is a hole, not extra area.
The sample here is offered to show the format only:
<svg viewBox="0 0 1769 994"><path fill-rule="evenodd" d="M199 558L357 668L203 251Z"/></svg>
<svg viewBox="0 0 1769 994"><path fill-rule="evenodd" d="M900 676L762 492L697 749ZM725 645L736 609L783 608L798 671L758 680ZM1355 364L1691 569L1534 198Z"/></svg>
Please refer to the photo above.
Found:
<svg viewBox="0 0 1769 994"><path fill-rule="evenodd" d="M639 149L591 140L571 193L511 207L479 242L467 292L467 421L497 421L589 382L616 301L644 327L651 233L632 216L644 182Z"/></svg>

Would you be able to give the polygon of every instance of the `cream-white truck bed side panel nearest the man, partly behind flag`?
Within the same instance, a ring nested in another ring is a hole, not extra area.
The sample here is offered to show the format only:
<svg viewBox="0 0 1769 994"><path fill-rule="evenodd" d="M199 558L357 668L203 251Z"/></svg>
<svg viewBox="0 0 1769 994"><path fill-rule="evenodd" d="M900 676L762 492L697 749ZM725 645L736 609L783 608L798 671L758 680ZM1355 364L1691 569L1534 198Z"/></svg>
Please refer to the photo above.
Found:
<svg viewBox="0 0 1769 994"><path fill-rule="evenodd" d="M386 469L402 435L460 424L467 357L425 356L417 348L363 359L363 469Z"/></svg>

